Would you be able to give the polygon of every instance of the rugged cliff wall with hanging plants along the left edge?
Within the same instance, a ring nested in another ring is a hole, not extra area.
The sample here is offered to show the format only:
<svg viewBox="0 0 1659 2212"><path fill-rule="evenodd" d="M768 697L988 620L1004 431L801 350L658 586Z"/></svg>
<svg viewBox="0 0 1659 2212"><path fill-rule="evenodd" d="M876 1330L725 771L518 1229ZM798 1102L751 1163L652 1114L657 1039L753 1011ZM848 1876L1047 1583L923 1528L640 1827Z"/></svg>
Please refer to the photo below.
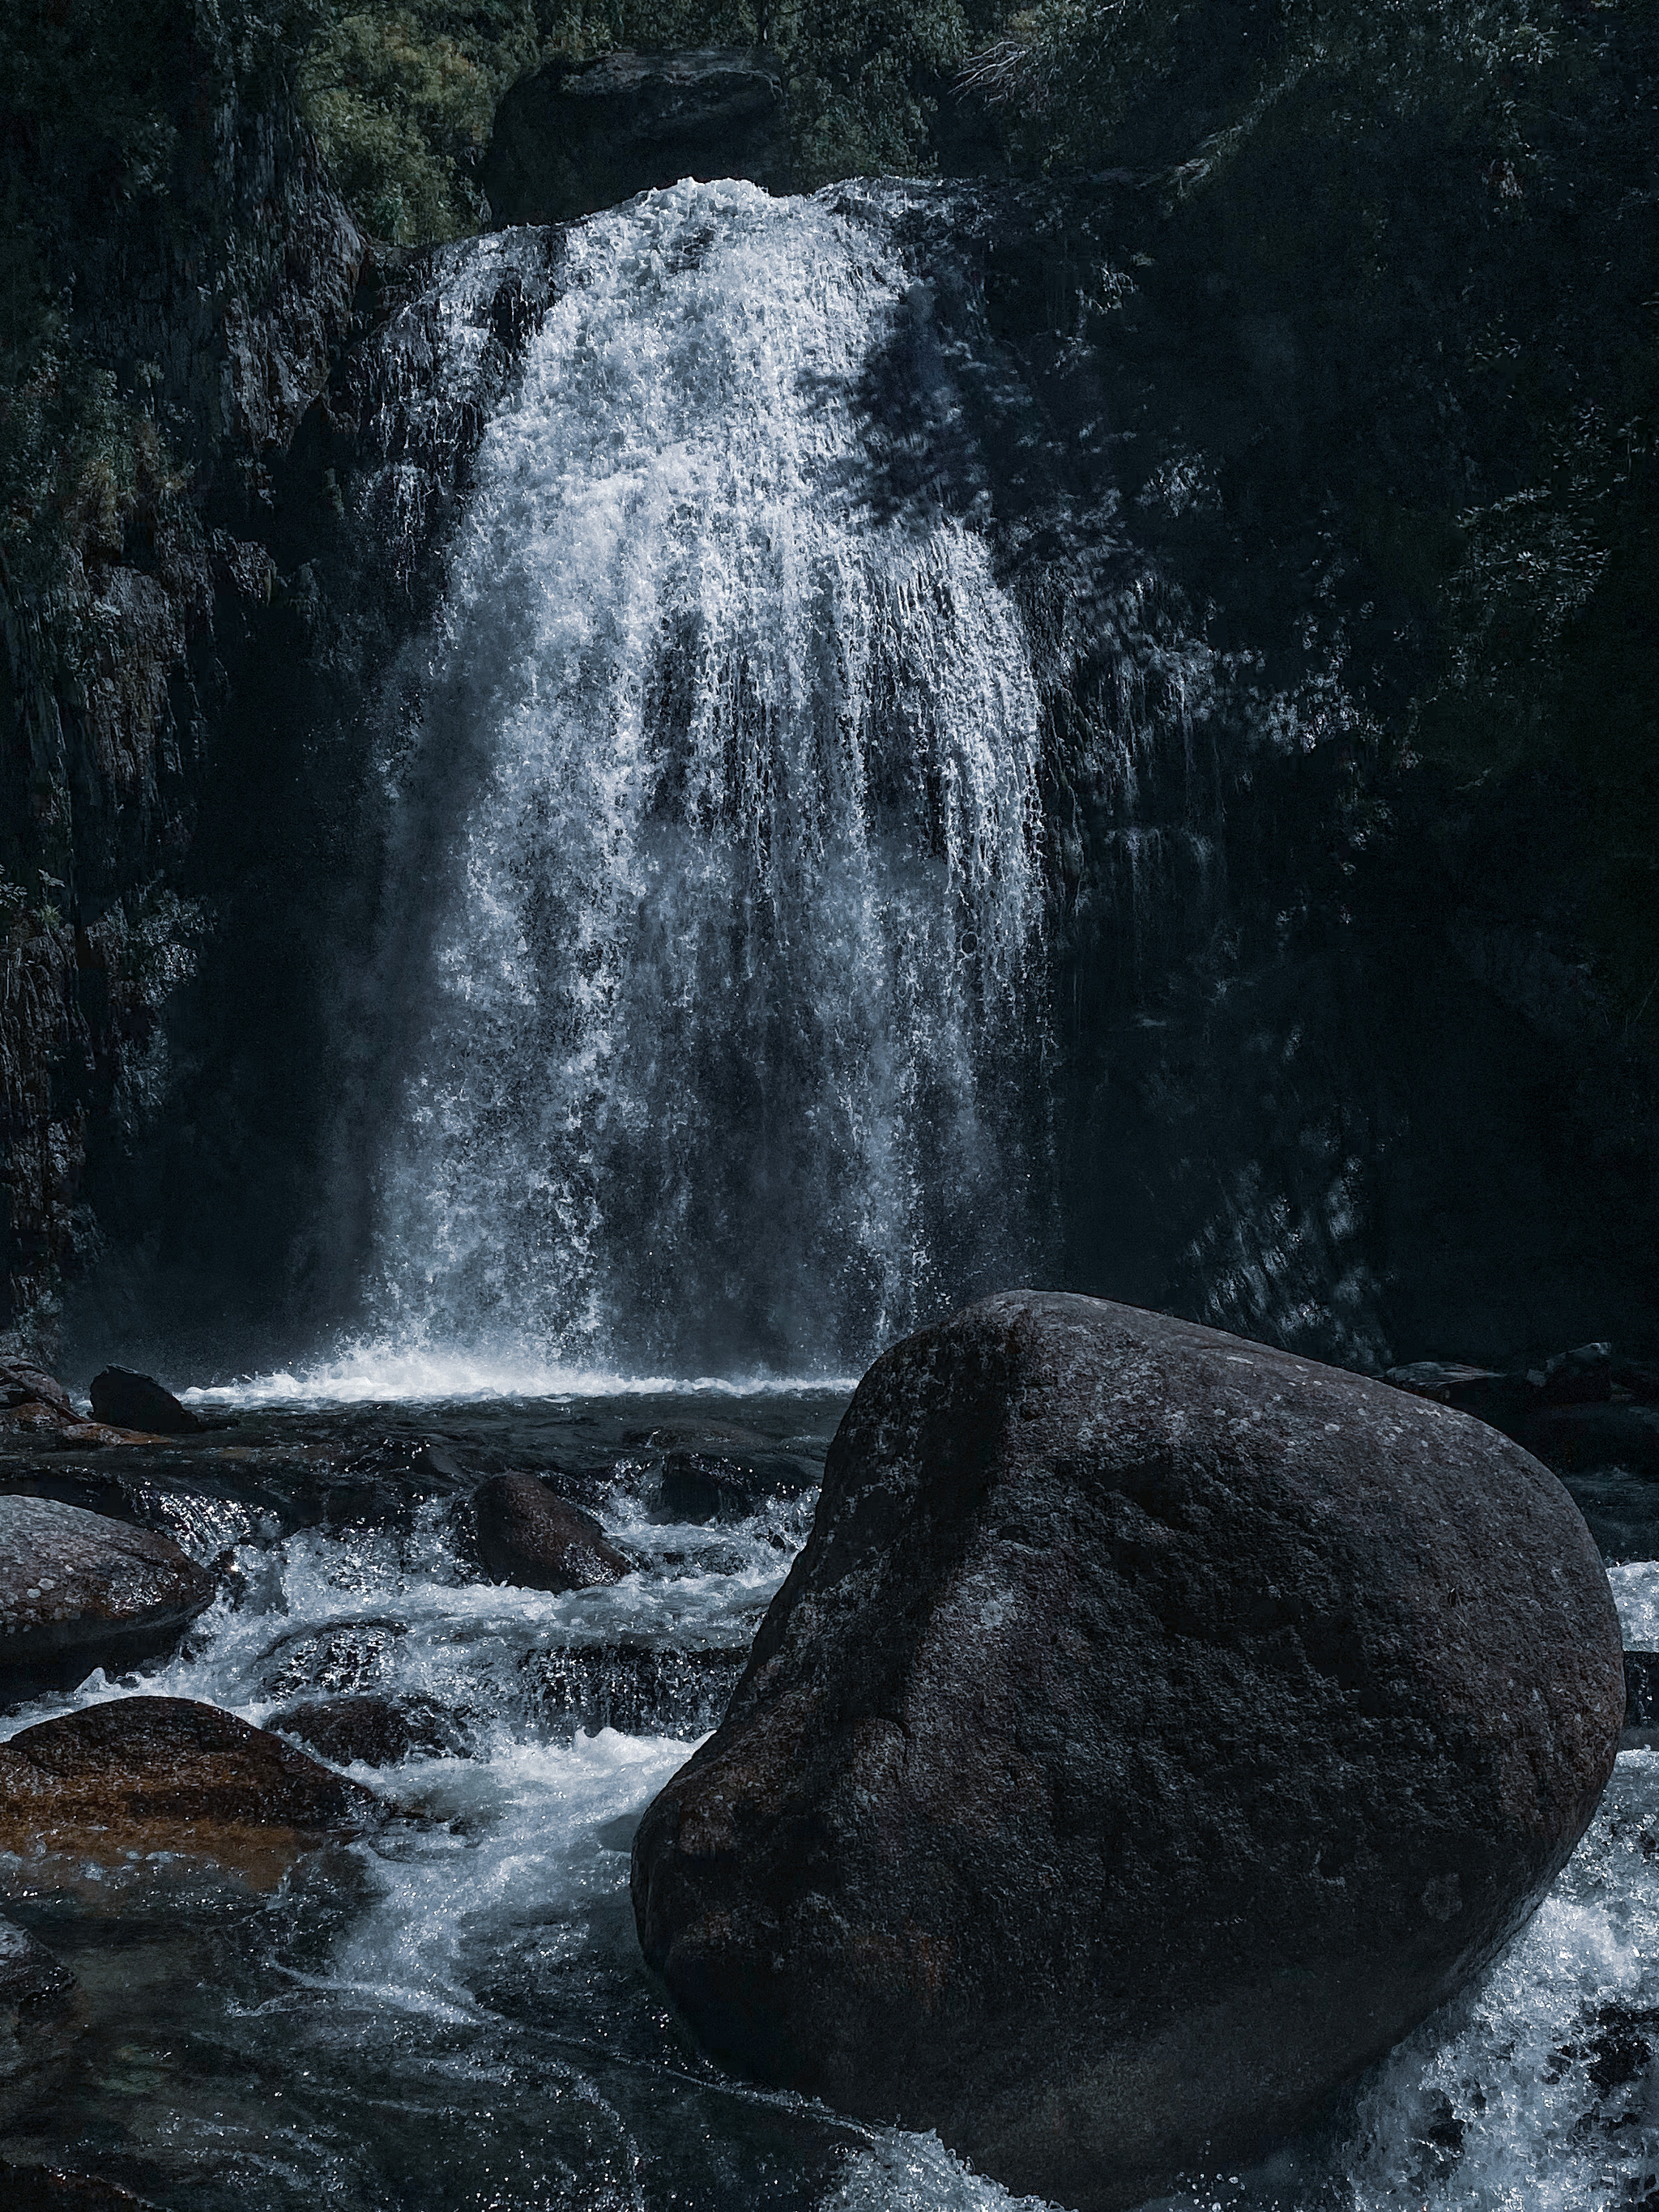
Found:
<svg viewBox="0 0 1659 2212"><path fill-rule="evenodd" d="M177 869L272 588L268 460L363 261L279 24L66 7L13 62L0 1327L51 1314L97 1237L88 1141L153 1082L190 964Z"/></svg>

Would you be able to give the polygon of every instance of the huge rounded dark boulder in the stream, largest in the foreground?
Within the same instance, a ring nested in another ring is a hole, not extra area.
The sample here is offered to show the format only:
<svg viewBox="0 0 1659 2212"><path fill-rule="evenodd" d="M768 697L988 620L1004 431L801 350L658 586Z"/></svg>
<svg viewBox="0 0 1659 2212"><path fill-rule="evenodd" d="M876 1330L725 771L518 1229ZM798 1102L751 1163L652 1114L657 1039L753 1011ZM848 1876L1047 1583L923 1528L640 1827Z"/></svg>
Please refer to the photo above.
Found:
<svg viewBox="0 0 1659 2212"><path fill-rule="evenodd" d="M1601 1562L1500 1431L1011 1292L865 1376L639 1940L723 2062L1130 2205L1489 1960L1621 1717Z"/></svg>

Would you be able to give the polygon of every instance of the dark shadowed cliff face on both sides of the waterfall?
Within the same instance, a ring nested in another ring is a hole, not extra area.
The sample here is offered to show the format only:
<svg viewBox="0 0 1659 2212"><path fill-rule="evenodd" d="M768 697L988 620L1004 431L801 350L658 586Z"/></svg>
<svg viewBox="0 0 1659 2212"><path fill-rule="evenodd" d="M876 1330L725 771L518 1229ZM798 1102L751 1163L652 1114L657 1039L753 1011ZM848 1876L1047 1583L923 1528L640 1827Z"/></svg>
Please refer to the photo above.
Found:
<svg viewBox="0 0 1659 2212"><path fill-rule="evenodd" d="M1540 646L1559 741L1467 737L1447 582L1471 513L1562 507L1553 422L1619 376L1646 422L1644 51L1586 51L1526 177L1287 100L1201 190L1144 122L1146 168L914 192L867 389L914 436L872 495L971 509L1040 646L1079 1290L1356 1365L1659 1336L1652 1062L1608 951L1646 942L1639 770L1606 761L1639 533ZM272 49L161 60L164 192L113 190L73 119L7 137L77 343L175 456L60 599L0 575L7 1318L100 1248L88 1354L254 1360L349 1318L365 1040L420 991L418 945L365 958L376 763L560 234L363 270Z"/></svg>

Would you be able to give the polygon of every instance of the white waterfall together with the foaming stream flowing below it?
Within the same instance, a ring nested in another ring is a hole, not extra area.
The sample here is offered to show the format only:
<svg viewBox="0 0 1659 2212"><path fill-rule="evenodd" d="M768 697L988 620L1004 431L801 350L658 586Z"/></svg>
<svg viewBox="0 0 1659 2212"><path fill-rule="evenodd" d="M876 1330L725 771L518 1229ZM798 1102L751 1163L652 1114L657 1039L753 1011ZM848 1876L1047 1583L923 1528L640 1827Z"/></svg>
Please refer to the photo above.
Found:
<svg viewBox="0 0 1659 2212"><path fill-rule="evenodd" d="M442 1502L181 1524L241 1568L181 1655L7 1728L139 1688L250 1721L420 1699L449 1739L356 1763L409 1818L274 1893L13 1863L82 2028L0 2070L9 2154L168 2212L1011 2205L931 2137L723 2077L628 1909L633 1825L814 1504L666 1520L653 1438L812 1469L883 1343L1044 1274L1037 690L971 467L894 495L914 456L865 405L894 347L949 416L878 195L684 186L568 239L389 686L389 922L341 1002L369 1323L190 1400L232 1453L425 1440L575 1482L639 1568L487 1586ZM1615 1586L1652 1641L1659 1568ZM1323 2128L1170 2203L1659 2203L1652 1770L1619 1759L1531 1927Z"/></svg>

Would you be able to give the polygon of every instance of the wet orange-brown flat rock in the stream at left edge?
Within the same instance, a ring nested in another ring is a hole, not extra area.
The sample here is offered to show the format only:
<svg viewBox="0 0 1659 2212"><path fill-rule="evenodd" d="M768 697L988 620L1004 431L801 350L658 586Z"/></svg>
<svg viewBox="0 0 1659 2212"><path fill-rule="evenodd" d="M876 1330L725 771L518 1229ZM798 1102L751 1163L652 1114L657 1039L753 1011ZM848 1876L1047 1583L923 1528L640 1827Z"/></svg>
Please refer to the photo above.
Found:
<svg viewBox="0 0 1659 2212"><path fill-rule="evenodd" d="M173 1851L276 1878L380 1812L270 1730L186 1697L119 1697L0 1743L0 1851L20 1858Z"/></svg>

